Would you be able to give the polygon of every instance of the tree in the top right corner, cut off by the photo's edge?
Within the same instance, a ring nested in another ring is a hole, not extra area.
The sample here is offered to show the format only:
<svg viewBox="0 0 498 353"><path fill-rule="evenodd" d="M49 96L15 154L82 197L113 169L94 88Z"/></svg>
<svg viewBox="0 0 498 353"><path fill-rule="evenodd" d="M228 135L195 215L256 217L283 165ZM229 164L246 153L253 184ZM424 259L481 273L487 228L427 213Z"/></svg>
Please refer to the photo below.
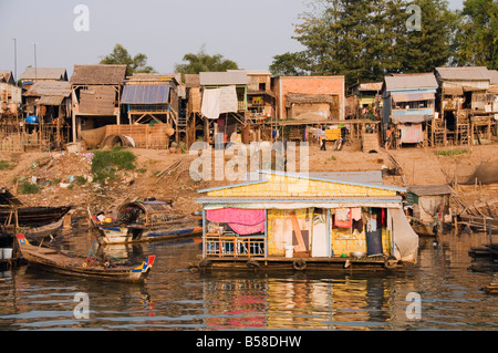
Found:
<svg viewBox="0 0 498 353"><path fill-rule="evenodd" d="M456 33L459 65L498 69L498 2L496 0L466 0Z"/></svg>

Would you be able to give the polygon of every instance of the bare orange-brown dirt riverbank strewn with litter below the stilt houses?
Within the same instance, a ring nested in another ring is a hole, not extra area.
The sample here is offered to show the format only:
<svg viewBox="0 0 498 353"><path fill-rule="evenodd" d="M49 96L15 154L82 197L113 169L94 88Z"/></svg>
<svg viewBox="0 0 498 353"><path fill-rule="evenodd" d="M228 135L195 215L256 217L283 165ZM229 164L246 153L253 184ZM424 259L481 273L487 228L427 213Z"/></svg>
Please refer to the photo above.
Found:
<svg viewBox="0 0 498 353"><path fill-rule="evenodd" d="M129 150L137 157L136 168L120 172L115 180L105 185L92 180L91 152L2 153L0 186L14 190L27 205L73 205L81 215L84 215L87 207L95 211L113 212L116 206L126 200L146 197L173 199L179 214L190 215L200 209L194 203L199 197L197 190L229 183L194 181L189 177L188 167L196 156L189 156L188 153L173 154L169 150L137 148ZM394 158L403 175L386 175L386 185L449 184L466 205L471 205L498 198L498 180L492 179L498 175L489 176L498 165L497 150L497 145L438 149L414 147L388 152L382 148L378 153L363 153L357 144L344 146L339 152L331 148L320 150L318 146L311 146L309 167L310 172L393 170L396 167ZM23 181L35 183L39 190L35 194L22 194L20 185Z"/></svg>

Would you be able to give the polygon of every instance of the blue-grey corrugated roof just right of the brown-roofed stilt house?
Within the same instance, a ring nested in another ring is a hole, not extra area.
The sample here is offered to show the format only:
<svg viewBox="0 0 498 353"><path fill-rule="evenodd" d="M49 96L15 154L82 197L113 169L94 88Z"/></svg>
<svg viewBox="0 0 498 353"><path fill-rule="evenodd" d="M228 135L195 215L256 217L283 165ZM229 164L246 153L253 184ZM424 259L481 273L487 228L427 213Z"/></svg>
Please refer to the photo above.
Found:
<svg viewBox="0 0 498 353"><path fill-rule="evenodd" d="M168 84L125 85L121 97L123 104L166 104L168 102Z"/></svg>

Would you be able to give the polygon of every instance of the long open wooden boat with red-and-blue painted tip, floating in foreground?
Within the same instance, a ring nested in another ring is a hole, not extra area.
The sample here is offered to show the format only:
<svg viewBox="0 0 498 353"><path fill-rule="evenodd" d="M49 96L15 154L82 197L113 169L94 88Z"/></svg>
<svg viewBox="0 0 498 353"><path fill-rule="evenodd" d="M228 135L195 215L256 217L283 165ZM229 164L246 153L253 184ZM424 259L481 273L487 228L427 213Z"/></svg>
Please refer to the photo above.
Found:
<svg viewBox="0 0 498 353"><path fill-rule="evenodd" d="M54 272L94 278L107 281L143 282L154 264L155 256L148 256L139 266L102 262L94 256L75 257L55 249L35 247L28 239L17 235L19 248L24 259L34 264L43 266Z"/></svg>

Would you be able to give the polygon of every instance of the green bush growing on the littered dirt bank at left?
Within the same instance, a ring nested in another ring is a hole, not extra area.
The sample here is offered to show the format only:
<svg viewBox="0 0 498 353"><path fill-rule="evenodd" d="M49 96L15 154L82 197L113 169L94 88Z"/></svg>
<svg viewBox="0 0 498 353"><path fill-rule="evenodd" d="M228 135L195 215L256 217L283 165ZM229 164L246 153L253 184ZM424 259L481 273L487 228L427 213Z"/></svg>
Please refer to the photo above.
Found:
<svg viewBox="0 0 498 353"><path fill-rule="evenodd" d="M94 180L105 183L108 178L114 180L117 178L117 170L135 169L136 156L129 150L121 147L114 147L112 150L96 150L92 159L92 173Z"/></svg>

